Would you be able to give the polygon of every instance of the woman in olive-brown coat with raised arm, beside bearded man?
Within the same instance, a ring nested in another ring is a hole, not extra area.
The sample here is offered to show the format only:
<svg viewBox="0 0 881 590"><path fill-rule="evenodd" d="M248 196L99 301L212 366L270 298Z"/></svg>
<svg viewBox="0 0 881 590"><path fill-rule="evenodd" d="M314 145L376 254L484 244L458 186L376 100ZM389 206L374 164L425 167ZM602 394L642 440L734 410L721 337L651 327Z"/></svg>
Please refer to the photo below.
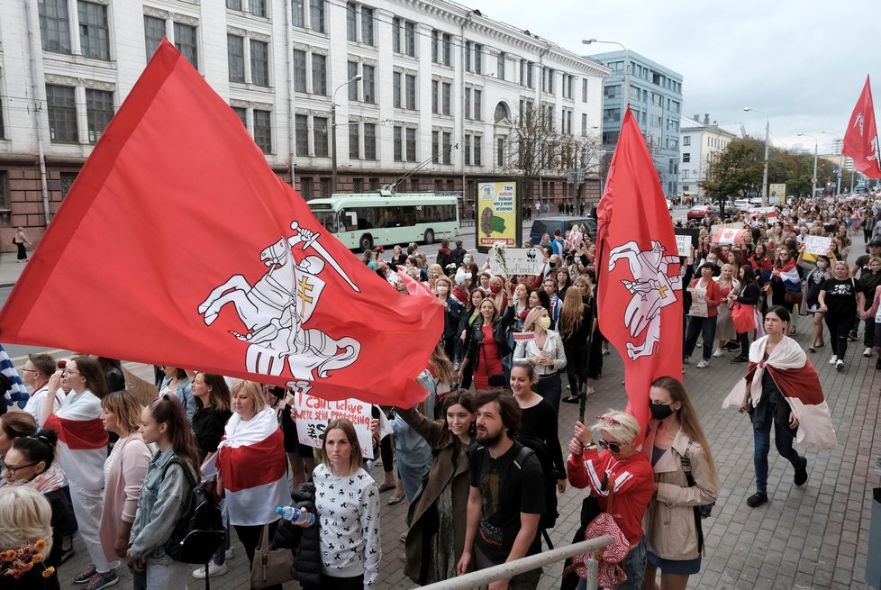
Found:
<svg viewBox="0 0 881 590"><path fill-rule="evenodd" d="M414 408L395 412L428 441L434 453L422 492L411 504L405 573L419 585L440 582L456 576L465 546L474 398L464 389L451 392L444 400L444 418L438 422Z"/></svg>

